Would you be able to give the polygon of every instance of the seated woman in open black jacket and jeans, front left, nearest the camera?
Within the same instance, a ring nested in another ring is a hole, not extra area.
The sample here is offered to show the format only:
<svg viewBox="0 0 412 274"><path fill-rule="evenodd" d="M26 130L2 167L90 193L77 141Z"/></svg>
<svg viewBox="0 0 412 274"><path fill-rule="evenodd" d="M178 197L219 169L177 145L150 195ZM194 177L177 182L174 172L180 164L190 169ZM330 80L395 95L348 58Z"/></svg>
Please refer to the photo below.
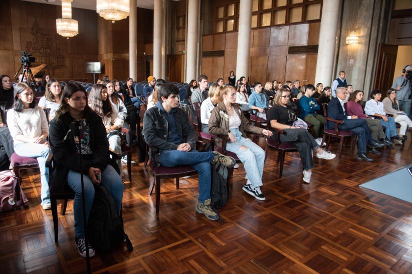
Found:
<svg viewBox="0 0 412 274"><path fill-rule="evenodd" d="M70 130L70 124L74 120L82 123L84 128L80 141L82 166L79 139ZM102 183L106 186L120 213L123 183L119 174L109 164L109 142L102 118L87 105L87 94L76 83L65 86L61 105L50 122L49 132L54 158L52 192L64 189L66 182L76 192L73 208L75 240L80 255L86 257L80 168L84 178L86 219L93 204L93 184ZM88 248L90 256L93 256L94 249L90 244Z"/></svg>

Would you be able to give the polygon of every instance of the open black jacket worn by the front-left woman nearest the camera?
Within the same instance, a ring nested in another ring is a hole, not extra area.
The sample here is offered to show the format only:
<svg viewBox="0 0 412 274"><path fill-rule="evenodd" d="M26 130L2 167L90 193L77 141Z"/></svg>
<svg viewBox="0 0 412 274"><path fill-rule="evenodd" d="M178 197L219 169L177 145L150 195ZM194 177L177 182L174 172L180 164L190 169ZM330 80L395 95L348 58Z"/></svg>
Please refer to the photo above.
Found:
<svg viewBox="0 0 412 274"><path fill-rule="evenodd" d="M90 112L86 119L90 127L90 148L93 151L91 160L82 158L82 171L87 176L91 166L100 168L100 170L106 168L109 163L109 141L100 116L95 112ZM80 172L80 159L79 154L77 154L76 143L71 132L68 133L70 123L73 120L74 118L69 112L66 112L61 115L60 119L57 120L55 117L50 122L49 143L53 152L54 164L52 193L63 191L70 169Z"/></svg>

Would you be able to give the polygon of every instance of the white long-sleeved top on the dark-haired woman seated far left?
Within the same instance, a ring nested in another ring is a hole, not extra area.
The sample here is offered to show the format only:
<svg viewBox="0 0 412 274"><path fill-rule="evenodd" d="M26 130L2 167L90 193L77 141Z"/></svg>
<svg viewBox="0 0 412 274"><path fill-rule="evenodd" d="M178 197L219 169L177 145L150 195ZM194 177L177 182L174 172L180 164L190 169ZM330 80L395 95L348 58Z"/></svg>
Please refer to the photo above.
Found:
<svg viewBox="0 0 412 274"><path fill-rule="evenodd" d="M26 108L21 112L17 112L13 108L9 109L7 112L7 125L14 143L22 142L15 139L20 134L34 139L40 137L42 132L49 132L46 113L40 106Z"/></svg>

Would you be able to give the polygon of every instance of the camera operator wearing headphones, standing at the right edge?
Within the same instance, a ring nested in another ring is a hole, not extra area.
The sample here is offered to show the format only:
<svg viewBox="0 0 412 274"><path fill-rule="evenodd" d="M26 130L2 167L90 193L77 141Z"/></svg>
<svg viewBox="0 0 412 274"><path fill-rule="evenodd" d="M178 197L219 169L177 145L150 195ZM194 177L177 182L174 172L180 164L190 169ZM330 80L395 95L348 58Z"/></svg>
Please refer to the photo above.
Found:
<svg viewBox="0 0 412 274"><path fill-rule="evenodd" d="M410 117L412 65L405 65L402 69L402 73L402 75L395 79L395 82L392 84L392 88L396 89L396 99L399 101L399 110L403 110L406 115Z"/></svg>

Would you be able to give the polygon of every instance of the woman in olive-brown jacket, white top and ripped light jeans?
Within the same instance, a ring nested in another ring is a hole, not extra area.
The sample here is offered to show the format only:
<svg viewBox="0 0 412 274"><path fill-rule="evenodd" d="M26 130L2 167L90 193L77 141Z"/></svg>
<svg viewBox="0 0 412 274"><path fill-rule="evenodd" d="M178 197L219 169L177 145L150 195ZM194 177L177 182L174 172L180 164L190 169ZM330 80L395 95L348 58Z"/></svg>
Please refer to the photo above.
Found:
<svg viewBox="0 0 412 274"><path fill-rule="evenodd" d="M264 200L265 195L260 186L263 185L265 151L246 136L246 131L266 136L271 136L272 132L249 122L235 103L236 93L235 88L231 85L219 89L219 105L212 111L209 119L209 131L211 134L229 136L230 141L226 143L226 149L236 153L245 167L248 178L242 189L255 198ZM217 146L222 145L220 137L216 138L216 144Z"/></svg>

